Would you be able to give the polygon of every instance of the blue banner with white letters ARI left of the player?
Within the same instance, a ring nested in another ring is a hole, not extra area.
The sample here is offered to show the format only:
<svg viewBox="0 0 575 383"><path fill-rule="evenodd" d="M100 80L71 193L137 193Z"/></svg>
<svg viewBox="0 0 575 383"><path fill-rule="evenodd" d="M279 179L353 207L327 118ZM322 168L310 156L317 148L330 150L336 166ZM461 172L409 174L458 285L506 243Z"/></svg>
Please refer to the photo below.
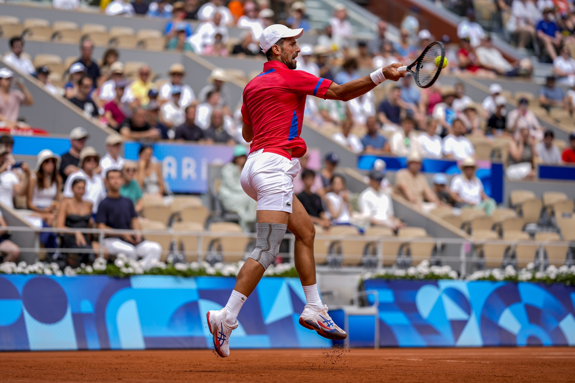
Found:
<svg viewBox="0 0 575 383"><path fill-rule="evenodd" d="M141 144L127 142L125 158L137 161ZM162 163L164 180L176 193L205 193L208 185L208 165L225 164L232 160L233 146L197 145L184 142L158 142L154 157Z"/></svg>

